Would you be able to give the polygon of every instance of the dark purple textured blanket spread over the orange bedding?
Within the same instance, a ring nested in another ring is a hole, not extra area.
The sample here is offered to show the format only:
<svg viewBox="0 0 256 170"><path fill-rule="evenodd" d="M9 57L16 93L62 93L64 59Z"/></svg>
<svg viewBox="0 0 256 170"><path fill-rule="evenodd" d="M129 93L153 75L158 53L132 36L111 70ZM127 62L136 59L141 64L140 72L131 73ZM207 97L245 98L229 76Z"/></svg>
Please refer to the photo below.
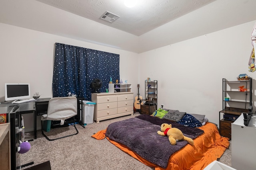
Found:
<svg viewBox="0 0 256 170"><path fill-rule="evenodd" d="M170 156L188 143L179 141L176 145L171 145L168 137L157 134L162 123L172 124L172 127L180 129L184 136L192 139L204 133L198 128L185 127L149 115L139 115L131 119L111 123L108 125L106 137L126 145L153 164L166 168Z"/></svg>

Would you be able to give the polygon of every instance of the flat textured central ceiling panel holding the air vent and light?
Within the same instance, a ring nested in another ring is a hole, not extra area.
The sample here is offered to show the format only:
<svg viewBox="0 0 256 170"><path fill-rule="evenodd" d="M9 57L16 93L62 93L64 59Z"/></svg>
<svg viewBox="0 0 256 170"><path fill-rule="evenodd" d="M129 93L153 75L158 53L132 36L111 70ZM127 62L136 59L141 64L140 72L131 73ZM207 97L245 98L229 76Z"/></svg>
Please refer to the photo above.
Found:
<svg viewBox="0 0 256 170"><path fill-rule="evenodd" d="M90 20L142 35L215 0L137 0L128 8L124 0L38 0ZM120 16L113 23L100 19L104 12Z"/></svg>

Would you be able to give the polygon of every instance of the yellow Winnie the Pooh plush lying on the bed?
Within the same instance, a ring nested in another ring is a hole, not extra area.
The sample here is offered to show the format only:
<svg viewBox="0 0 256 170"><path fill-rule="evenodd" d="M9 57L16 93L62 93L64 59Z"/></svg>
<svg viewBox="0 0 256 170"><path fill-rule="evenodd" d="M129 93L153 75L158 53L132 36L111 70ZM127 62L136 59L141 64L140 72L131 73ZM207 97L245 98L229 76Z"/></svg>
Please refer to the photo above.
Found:
<svg viewBox="0 0 256 170"><path fill-rule="evenodd" d="M163 123L161 125L161 131L157 131L158 135L168 136L171 145L176 145L176 142L180 140L187 141L190 145L194 145L193 139L183 135L182 131L178 128L172 128L172 125Z"/></svg>

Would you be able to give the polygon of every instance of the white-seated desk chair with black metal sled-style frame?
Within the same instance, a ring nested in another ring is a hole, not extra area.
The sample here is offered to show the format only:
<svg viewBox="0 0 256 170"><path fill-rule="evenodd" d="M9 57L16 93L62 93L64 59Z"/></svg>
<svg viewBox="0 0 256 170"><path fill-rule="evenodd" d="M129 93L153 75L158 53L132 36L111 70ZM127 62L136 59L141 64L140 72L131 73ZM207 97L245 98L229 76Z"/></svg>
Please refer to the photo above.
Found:
<svg viewBox="0 0 256 170"><path fill-rule="evenodd" d="M42 124L42 135L46 137L48 141L54 141L56 139L61 139L64 137L69 137L72 135L78 134L78 130L75 125L75 115L77 115L77 99L76 97L60 97L60 98L51 98L48 103L48 111L47 114L42 115L41 124ZM63 137L58 137L55 139L49 139L43 130L43 121L52 120L52 121L60 121L60 125L64 125L64 121L70 117L74 119L74 128L76 129L76 133L71 135L66 135Z"/></svg>

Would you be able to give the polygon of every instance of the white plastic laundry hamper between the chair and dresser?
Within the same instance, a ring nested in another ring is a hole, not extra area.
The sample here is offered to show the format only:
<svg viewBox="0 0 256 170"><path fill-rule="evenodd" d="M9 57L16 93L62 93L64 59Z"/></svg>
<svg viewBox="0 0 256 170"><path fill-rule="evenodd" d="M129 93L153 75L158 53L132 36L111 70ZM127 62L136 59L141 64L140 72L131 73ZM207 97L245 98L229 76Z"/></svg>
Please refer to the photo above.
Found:
<svg viewBox="0 0 256 170"><path fill-rule="evenodd" d="M96 103L94 102L90 102L87 100L83 100L83 104L82 104L82 109L81 111L83 111L83 113L80 113L80 121L82 121L82 123L84 123L84 125L86 124L90 124L93 123L93 114L94 114L94 105Z"/></svg>

